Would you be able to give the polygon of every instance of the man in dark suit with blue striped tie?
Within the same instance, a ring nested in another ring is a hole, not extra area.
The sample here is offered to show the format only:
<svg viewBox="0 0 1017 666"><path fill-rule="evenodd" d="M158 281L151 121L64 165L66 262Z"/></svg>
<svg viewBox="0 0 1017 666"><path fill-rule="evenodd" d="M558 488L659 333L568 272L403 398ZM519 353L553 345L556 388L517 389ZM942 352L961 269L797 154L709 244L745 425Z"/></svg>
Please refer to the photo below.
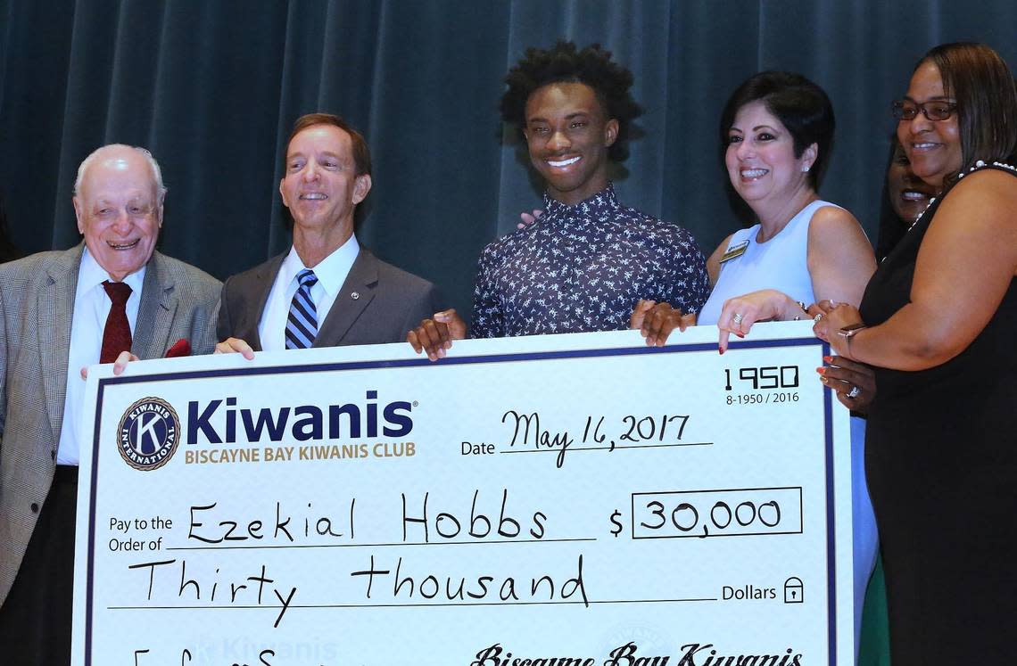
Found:
<svg viewBox="0 0 1017 666"><path fill-rule="evenodd" d="M371 189L370 152L330 114L297 120L279 184L293 217L288 252L223 286L217 352L396 343L434 311L434 286L375 258L353 233Z"/></svg>

